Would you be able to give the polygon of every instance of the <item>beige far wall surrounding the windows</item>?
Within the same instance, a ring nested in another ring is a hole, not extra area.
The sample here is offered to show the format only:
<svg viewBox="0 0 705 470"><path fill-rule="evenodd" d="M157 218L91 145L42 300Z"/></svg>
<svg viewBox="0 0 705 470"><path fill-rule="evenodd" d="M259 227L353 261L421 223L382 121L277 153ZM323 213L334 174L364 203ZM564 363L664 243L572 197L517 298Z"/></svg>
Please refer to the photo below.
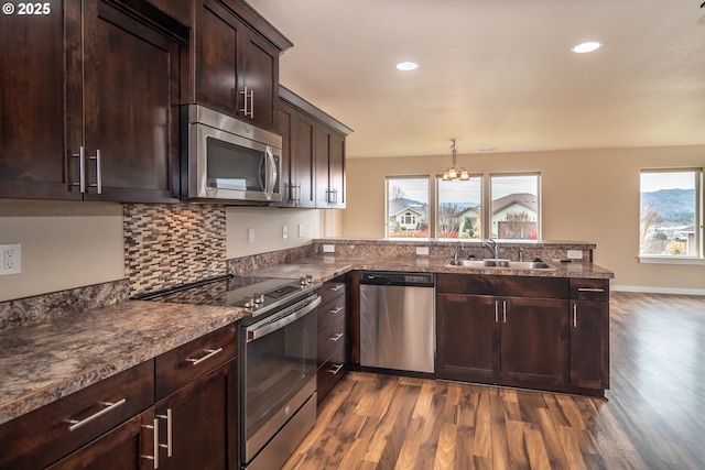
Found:
<svg viewBox="0 0 705 470"><path fill-rule="evenodd" d="M436 175L449 155L349 159L343 236L384 237L384 177ZM540 172L543 239L597 243L595 262L612 287L705 294L705 265L641 264L641 168L705 167L705 145L458 155L470 173Z"/></svg>

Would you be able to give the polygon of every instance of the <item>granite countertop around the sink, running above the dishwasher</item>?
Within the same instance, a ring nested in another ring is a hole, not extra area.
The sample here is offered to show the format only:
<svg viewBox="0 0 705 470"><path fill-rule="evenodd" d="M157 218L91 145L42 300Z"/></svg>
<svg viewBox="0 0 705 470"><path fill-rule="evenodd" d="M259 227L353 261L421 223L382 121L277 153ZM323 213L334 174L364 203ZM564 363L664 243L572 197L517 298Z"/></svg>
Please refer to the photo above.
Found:
<svg viewBox="0 0 705 470"><path fill-rule="evenodd" d="M552 270L510 270L497 267L447 266L445 260L427 256L376 258L376 256L335 256L319 254L295 260L291 263L273 264L257 270L264 277L296 278L311 274L325 282L348 271L408 271L456 274L528 275L536 277L581 277L612 278L615 273L592 263L547 262Z"/></svg>

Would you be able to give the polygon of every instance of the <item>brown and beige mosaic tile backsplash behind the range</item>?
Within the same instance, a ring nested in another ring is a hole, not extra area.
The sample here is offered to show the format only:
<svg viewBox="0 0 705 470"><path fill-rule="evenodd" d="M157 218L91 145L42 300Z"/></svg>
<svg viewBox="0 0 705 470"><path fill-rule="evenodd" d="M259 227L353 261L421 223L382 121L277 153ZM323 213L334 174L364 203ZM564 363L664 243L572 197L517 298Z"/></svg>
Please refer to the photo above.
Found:
<svg viewBox="0 0 705 470"><path fill-rule="evenodd" d="M130 296L228 273L225 206L126 204Z"/></svg>

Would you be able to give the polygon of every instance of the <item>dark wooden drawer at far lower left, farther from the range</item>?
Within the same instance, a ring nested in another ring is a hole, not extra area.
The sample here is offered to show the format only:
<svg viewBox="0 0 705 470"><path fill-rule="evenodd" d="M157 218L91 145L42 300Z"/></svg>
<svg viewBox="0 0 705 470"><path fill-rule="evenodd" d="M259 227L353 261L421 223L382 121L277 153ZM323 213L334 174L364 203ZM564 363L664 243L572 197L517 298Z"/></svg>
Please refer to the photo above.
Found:
<svg viewBox="0 0 705 470"><path fill-rule="evenodd" d="M102 380L0 426L2 469L44 468L150 407L154 361Z"/></svg>

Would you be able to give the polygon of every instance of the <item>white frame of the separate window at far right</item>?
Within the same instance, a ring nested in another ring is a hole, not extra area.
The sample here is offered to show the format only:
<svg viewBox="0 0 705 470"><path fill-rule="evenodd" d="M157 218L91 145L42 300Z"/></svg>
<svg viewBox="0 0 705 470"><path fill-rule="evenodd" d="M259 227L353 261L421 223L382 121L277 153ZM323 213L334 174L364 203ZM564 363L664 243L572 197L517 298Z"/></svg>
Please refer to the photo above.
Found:
<svg viewBox="0 0 705 470"><path fill-rule="evenodd" d="M695 173L695 220L693 227L695 231L695 250L696 254L644 254L641 253L641 175L644 173ZM705 252L703 240L705 232L703 230L703 167L648 167L639 170L639 242L637 243L637 259L641 264L693 264L705 265Z"/></svg>

